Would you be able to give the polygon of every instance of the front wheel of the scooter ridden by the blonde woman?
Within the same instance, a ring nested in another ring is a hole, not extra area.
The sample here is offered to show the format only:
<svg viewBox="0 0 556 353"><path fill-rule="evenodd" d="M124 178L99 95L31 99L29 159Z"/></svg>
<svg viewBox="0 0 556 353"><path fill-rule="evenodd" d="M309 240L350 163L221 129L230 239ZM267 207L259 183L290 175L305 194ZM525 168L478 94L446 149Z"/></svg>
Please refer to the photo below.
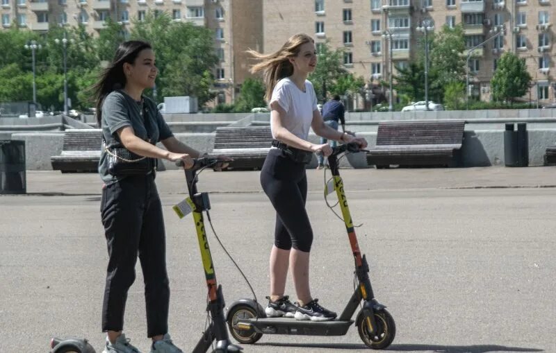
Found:
<svg viewBox="0 0 556 353"><path fill-rule="evenodd" d="M371 334L365 314L361 310L356 320L357 331L361 341L367 347L373 348L373 350L384 350L394 341L395 322L386 309L375 311L375 322L377 323L375 334Z"/></svg>

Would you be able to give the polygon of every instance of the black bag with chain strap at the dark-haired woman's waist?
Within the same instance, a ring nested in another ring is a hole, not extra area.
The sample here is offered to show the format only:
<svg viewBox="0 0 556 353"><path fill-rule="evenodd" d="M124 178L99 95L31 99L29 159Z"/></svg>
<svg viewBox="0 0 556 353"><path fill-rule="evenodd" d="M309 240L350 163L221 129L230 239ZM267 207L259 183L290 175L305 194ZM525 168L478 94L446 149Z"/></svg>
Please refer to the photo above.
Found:
<svg viewBox="0 0 556 353"><path fill-rule="evenodd" d="M136 155L124 147L105 147L108 173L115 176L147 175L156 167L156 159Z"/></svg>

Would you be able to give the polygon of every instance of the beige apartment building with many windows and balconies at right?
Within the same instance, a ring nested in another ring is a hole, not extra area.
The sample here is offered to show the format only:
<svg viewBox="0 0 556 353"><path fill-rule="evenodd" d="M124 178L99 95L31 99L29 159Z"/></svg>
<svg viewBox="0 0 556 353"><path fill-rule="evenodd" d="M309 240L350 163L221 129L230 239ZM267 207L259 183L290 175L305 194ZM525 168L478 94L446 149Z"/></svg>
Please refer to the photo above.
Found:
<svg viewBox="0 0 556 353"><path fill-rule="evenodd" d="M489 100L498 59L513 51L525 60L533 78L531 94L524 98L553 103L556 13L552 1L263 0L264 49L275 51L289 36L307 33L317 46L328 40L332 48L344 48L344 66L377 85L379 80L389 80L390 67L396 74L397 67L406 67L416 57L419 38L425 35L419 29L431 26L432 31L440 31L444 24L461 23L468 50L477 46L469 60L470 94ZM501 28L505 33L498 35Z"/></svg>

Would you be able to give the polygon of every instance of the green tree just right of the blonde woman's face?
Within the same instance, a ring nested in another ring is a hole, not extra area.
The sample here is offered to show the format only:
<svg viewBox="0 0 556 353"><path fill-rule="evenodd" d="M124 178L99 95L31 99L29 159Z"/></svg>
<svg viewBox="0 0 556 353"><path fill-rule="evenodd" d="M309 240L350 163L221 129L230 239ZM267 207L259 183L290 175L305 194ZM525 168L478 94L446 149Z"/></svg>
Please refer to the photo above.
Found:
<svg viewBox="0 0 556 353"><path fill-rule="evenodd" d="M334 86L338 78L347 74L342 65L343 49L332 51L328 42L322 44L318 51L318 63L315 71L309 75L313 83L318 101L326 101L330 88Z"/></svg>

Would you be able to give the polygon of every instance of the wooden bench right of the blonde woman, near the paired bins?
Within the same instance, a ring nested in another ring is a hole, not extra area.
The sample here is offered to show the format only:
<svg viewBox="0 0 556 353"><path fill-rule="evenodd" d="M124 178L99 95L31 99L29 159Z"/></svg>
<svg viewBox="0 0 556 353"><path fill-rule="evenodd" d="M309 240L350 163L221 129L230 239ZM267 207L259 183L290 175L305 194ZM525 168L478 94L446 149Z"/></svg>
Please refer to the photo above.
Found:
<svg viewBox="0 0 556 353"><path fill-rule="evenodd" d="M377 169L399 166L459 165L465 121L379 123L377 144L367 163Z"/></svg>

